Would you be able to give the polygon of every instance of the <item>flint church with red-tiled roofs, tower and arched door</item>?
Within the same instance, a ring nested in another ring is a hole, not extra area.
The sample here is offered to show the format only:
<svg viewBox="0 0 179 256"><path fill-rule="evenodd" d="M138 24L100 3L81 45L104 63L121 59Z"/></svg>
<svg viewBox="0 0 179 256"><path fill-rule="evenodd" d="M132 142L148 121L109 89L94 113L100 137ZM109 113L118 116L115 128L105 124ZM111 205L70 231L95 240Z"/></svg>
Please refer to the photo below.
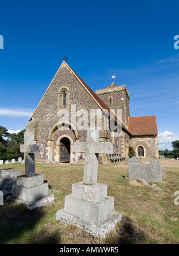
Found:
<svg viewBox="0 0 179 256"><path fill-rule="evenodd" d="M75 141L86 141L87 129L91 127L92 118L95 128L99 110L100 141L113 143L113 154L99 155L100 162L106 164L128 158L129 146L134 148L137 156L158 158L156 116L130 117L129 98L126 86L115 83L93 92L63 61L26 125L26 131L33 131L35 143L40 146L36 162L84 161L85 154L73 152L73 144ZM116 110L120 110L120 118ZM83 119L86 113L89 115ZM107 124L113 121L115 128L108 125L106 129L104 119ZM88 123L86 126L85 121ZM120 132L115 131L119 131L118 127Z"/></svg>

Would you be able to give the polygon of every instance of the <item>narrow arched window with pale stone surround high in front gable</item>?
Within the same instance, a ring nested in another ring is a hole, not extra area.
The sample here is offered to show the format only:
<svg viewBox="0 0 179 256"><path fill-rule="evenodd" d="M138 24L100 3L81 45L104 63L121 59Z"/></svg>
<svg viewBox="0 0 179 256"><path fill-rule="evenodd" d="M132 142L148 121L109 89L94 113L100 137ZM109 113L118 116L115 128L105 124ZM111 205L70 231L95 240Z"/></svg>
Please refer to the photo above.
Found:
<svg viewBox="0 0 179 256"><path fill-rule="evenodd" d="M70 90L67 86L61 86L57 93L58 110L62 108L69 108L70 106Z"/></svg>

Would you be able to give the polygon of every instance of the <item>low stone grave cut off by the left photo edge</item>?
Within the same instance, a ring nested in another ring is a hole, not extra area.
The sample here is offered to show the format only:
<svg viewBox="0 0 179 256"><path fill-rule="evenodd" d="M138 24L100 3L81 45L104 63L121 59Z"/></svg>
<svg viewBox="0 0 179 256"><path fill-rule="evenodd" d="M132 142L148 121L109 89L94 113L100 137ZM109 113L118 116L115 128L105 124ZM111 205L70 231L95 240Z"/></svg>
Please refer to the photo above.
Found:
<svg viewBox="0 0 179 256"><path fill-rule="evenodd" d="M17 176L21 172L16 170L0 170L0 190L4 195L11 194L13 185L16 185Z"/></svg>

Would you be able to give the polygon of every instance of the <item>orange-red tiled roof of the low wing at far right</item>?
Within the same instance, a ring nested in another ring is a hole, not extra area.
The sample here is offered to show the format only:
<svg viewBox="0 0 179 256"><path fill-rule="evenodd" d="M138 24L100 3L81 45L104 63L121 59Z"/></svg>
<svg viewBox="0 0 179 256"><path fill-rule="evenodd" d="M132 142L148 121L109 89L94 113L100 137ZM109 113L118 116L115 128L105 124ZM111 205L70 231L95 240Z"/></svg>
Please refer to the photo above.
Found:
<svg viewBox="0 0 179 256"><path fill-rule="evenodd" d="M128 129L133 135L158 134L156 116L133 116L129 117Z"/></svg>

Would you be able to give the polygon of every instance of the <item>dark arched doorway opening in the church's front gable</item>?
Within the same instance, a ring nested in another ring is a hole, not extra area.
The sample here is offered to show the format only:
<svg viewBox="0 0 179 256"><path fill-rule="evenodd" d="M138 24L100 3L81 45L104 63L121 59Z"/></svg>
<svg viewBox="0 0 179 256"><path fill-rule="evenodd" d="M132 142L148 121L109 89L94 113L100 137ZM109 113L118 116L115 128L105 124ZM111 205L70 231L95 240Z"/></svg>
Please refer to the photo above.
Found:
<svg viewBox="0 0 179 256"><path fill-rule="evenodd" d="M70 140L66 137L60 141L60 162L70 162Z"/></svg>

